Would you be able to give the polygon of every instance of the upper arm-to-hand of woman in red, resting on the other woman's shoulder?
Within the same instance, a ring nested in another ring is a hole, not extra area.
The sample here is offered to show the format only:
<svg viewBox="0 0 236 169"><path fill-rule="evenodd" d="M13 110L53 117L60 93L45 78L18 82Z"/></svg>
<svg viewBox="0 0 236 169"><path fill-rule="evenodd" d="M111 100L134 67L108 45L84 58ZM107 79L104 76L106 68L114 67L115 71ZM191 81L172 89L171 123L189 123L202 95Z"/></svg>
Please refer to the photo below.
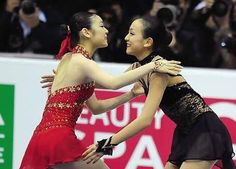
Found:
<svg viewBox="0 0 236 169"><path fill-rule="evenodd" d="M94 80L98 85L107 89L119 89L126 85L132 84L154 70L166 70L165 72L168 73L169 71L178 69L176 68L176 63L178 62L176 61L169 61L169 63L166 63L165 65L159 65L159 61L155 61L144 66L140 66L134 70L114 76L106 73L92 60L82 59L80 61L83 62L80 63L80 71L83 71L83 74L87 78ZM180 69L176 72L179 72L179 70Z"/></svg>

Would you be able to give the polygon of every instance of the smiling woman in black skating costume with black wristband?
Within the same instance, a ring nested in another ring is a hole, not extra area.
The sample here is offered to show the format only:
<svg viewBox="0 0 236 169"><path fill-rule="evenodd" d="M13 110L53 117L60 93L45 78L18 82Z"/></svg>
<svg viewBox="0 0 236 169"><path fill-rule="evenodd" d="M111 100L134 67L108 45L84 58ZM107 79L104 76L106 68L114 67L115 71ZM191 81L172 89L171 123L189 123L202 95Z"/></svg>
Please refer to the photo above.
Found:
<svg viewBox="0 0 236 169"><path fill-rule="evenodd" d="M160 21L148 17L134 20L125 37L127 54L138 59L130 69L151 62L171 39ZM182 75L155 72L144 76L140 82L147 96L140 116L112 137L91 145L84 153L84 160L96 161L99 157L95 152L111 155L115 145L150 126L160 107L176 124L165 169L210 169L214 165L223 169L235 168L227 128Z"/></svg>

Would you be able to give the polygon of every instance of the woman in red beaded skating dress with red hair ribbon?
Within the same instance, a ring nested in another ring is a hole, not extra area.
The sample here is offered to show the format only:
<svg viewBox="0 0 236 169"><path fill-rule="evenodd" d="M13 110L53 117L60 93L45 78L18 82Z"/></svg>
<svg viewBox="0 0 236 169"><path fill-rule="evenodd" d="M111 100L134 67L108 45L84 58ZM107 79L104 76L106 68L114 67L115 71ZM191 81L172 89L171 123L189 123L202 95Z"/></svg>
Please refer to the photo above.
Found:
<svg viewBox="0 0 236 169"><path fill-rule="evenodd" d="M33 133L20 169L108 168L101 160L95 164L82 160L86 146L76 138L74 126L83 105L86 104L94 114L99 114L134 98L136 93L130 91L115 99L99 102L94 94L95 86L118 89L134 83L151 71L176 75L181 69L179 62L160 59L111 76L92 60L96 49L108 45L108 30L102 19L95 14L76 13L68 28L68 36L57 55L62 59L50 88L42 120ZM101 156L101 153L97 155Z"/></svg>

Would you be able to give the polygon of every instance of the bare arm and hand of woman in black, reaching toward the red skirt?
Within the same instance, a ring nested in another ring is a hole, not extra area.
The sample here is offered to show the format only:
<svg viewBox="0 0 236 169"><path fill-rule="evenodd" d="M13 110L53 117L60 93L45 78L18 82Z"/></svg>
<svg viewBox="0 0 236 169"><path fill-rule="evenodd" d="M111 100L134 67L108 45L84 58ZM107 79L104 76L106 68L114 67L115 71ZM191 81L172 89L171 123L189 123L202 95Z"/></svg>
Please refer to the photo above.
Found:
<svg viewBox="0 0 236 169"><path fill-rule="evenodd" d="M129 123L126 127L121 129L118 133L114 134L111 137L111 140L107 139L108 141L105 142L109 142L109 144L111 145L119 144L150 126L155 116L155 113L160 105L161 99L163 97L167 85L168 75L161 73L153 73L150 78L149 92L141 115L138 116L134 121ZM99 158L95 155L97 153L96 148L96 146L91 146L90 148L88 148L83 153L84 160L89 160L88 162L96 162Z"/></svg>

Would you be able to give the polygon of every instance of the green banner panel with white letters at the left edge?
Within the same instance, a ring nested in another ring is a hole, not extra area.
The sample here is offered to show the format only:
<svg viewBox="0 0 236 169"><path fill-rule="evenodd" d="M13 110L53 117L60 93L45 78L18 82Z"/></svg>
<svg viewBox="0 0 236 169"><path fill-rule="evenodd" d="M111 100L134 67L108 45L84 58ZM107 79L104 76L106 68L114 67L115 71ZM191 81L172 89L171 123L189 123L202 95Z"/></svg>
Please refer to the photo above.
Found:
<svg viewBox="0 0 236 169"><path fill-rule="evenodd" d="M11 169L13 158L14 85L0 84L0 168Z"/></svg>

